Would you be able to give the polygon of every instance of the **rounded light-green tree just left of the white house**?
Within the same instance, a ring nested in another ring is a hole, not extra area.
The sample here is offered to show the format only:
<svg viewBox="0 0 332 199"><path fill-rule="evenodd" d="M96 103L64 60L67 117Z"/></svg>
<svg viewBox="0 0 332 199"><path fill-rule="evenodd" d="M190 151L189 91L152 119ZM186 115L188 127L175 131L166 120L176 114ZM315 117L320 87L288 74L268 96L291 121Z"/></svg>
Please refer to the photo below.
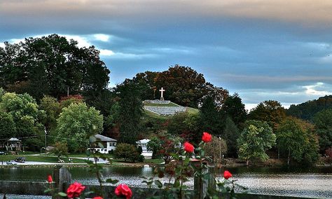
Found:
<svg viewBox="0 0 332 199"><path fill-rule="evenodd" d="M57 137L67 142L69 151L84 151L88 138L102 132L103 117L94 107L85 103L70 104L57 118Z"/></svg>

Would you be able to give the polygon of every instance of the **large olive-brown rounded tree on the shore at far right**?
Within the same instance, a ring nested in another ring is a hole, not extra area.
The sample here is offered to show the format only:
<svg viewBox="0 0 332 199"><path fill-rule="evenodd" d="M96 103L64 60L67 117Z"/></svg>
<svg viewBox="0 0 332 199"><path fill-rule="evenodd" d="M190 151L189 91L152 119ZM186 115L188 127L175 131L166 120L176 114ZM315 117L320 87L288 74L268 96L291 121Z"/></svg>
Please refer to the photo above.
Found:
<svg viewBox="0 0 332 199"><path fill-rule="evenodd" d="M298 118L288 117L277 128L277 144L290 160L296 163L313 164L318 158L318 140L310 123Z"/></svg>

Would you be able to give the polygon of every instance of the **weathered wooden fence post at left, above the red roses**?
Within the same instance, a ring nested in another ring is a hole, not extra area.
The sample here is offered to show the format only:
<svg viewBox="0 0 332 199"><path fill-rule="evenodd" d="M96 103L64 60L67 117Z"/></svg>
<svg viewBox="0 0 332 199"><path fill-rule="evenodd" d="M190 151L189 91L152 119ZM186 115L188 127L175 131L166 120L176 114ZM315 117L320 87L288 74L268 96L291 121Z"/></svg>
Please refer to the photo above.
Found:
<svg viewBox="0 0 332 199"><path fill-rule="evenodd" d="M67 167L56 165L53 171L53 181L55 181L57 191L66 192L68 184L71 183L71 173Z"/></svg>

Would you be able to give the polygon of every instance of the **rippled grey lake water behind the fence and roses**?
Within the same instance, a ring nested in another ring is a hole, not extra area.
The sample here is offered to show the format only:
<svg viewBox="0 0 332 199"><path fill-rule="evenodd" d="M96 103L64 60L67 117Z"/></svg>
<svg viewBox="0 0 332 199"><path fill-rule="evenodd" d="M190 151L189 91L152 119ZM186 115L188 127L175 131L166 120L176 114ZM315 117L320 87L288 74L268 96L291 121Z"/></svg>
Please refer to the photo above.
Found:
<svg viewBox="0 0 332 199"><path fill-rule="evenodd" d="M235 167L226 168L233 173L238 184L249 188L249 193L287 195L303 198L332 198L332 167L281 168L281 167ZM97 184L87 167L69 168L75 181ZM0 168L0 180L46 181L52 168ZM223 170L216 172L222 177ZM141 177L151 177L151 167L106 167L104 177L118 179L120 183L141 187ZM168 178L161 181L167 182ZM186 185L193 188L193 180Z"/></svg>

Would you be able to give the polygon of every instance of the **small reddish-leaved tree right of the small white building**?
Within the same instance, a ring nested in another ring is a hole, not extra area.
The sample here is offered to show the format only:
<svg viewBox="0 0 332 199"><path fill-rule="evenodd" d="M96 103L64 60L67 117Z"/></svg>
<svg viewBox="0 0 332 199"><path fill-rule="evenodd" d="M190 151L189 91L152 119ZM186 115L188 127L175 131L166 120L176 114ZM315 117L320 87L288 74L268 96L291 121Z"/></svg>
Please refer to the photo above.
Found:
<svg viewBox="0 0 332 199"><path fill-rule="evenodd" d="M152 137L148 142L147 149L153 151L153 158L162 158L167 165L173 160L172 153L177 153L183 139L176 135L171 135L161 132L155 137Z"/></svg>

